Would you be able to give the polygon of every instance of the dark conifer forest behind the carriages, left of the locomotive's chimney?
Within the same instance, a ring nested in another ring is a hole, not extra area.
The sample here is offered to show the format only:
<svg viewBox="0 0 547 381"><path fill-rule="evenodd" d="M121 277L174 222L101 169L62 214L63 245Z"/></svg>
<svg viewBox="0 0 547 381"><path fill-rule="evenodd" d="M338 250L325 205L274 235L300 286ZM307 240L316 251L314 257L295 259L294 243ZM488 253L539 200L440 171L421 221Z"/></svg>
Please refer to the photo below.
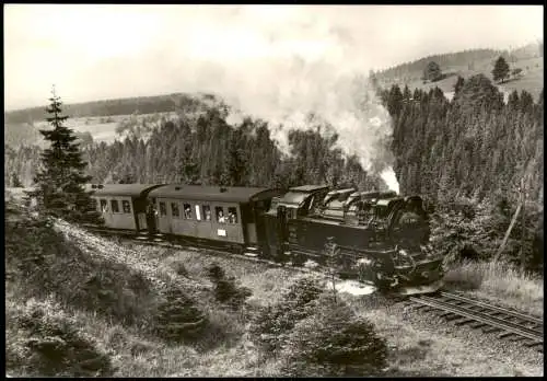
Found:
<svg viewBox="0 0 547 381"><path fill-rule="evenodd" d="M265 123L226 123L211 109L195 123L167 122L148 141L126 139L86 151L90 174L97 182L184 182L221 185L287 187L305 183L379 186L357 158L345 162L333 149L336 136L292 131L292 157L282 157Z"/></svg>

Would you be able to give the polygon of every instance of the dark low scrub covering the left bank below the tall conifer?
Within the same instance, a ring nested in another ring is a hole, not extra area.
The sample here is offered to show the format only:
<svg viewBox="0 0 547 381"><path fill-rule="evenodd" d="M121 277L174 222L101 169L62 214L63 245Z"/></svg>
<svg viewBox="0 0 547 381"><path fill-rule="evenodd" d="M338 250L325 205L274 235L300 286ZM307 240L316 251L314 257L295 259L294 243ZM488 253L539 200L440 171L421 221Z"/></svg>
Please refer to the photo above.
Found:
<svg viewBox="0 0 547 381"><path fill-rule="evenodd" d="M94 256L48 220L5 223L5 266L22 297L55 295L67 304L126 324L148 324L156 293L142 273Z"/></svg>

